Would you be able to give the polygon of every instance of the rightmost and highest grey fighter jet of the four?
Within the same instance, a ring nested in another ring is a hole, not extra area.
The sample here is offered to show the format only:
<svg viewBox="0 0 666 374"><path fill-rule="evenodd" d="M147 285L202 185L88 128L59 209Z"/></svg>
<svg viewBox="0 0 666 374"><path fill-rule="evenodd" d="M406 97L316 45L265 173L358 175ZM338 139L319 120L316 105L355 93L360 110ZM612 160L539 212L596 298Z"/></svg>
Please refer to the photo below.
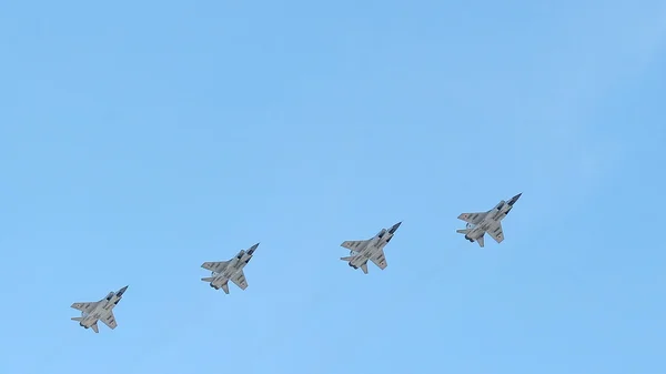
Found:
<svg viewBox="0 0 666 374"><path fill-rule="evenodd" d="M502 200L495 208L487 212L481 213L463 213L458 215L458 220L467 222L466 229L456 230L457 233L465 234L465 239L470 242L477 242L478 246L484 246L484 234L487 232L497 243L504 241L504 232L502 230L502 220L511 212L523 193L511 198L508 201Z"/></svg>

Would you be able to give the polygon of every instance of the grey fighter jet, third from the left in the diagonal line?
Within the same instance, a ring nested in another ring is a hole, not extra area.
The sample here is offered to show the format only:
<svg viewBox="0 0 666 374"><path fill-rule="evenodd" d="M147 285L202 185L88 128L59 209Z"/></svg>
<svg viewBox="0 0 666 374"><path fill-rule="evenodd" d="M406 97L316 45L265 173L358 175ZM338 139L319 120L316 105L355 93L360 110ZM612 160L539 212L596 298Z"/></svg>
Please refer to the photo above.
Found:
<svg viewBox="0 0 666 374"><path fill-rule="evenodd" d="M386 269L389 264L386 264L386 257L384 256L384 246L391 241L401 223L394 224L389 230L382 229L376 235L367 240L343 242L340 246L351 250L351 252L349 256L340 260L349 261L350 266L354 269L361 267L365 274L367 274L367 260L381 270Z"/></svg>

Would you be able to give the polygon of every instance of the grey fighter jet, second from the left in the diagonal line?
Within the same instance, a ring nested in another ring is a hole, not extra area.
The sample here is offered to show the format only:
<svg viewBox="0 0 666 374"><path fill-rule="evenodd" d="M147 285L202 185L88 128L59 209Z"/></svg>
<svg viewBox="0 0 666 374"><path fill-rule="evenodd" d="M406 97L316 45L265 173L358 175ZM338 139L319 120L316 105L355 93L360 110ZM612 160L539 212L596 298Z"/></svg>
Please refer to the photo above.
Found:
<svg viewBox="0 0 666 374"><path fill-rule="evenodd" d="M245 250L241 250L235 257L229 261L220 261L220 262L204 262L201 267L211 271L211 276L202 277L201 280L204 282L211 282L211 287L215 290L224 290L225 294L229 294L229 280L231 280L235 285L238 285L241 290L248 289L248 281L245 280L245 274L243 273L243 267L250 262L252 259L252 254L259 246L259 243L252 245L248 252Z"/></svg>

